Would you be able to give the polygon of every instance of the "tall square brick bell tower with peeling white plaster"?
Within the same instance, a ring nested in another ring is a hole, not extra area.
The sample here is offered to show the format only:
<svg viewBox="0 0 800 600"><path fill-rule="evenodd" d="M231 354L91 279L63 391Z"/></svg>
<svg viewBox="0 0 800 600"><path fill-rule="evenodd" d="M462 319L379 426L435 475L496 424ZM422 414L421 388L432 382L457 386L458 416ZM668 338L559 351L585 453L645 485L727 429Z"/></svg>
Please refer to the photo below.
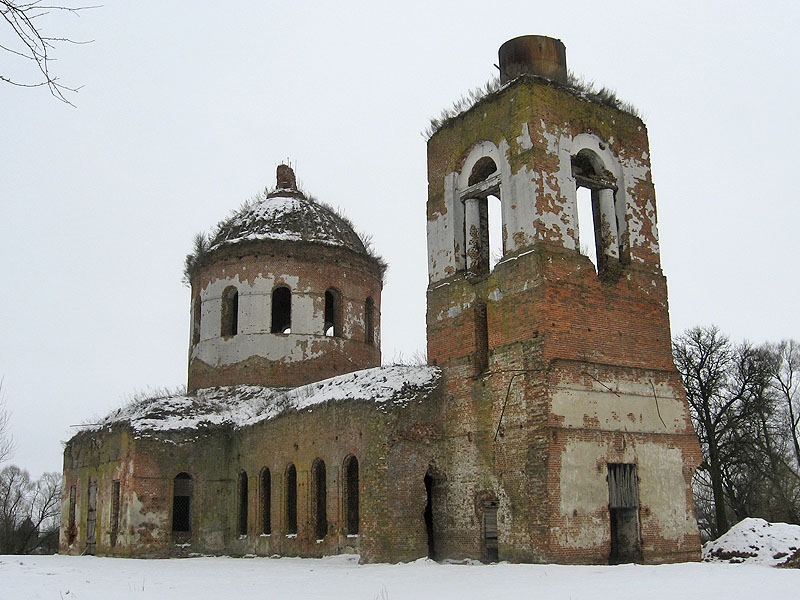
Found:
<svg viewBox="0 0 800 600"><path fill-rule="evenodd" d="M515 38L499 64L500 89L428 142L437 550L696 560L699 445L672 361L647 129L569 84L560 40Z"/></svg>

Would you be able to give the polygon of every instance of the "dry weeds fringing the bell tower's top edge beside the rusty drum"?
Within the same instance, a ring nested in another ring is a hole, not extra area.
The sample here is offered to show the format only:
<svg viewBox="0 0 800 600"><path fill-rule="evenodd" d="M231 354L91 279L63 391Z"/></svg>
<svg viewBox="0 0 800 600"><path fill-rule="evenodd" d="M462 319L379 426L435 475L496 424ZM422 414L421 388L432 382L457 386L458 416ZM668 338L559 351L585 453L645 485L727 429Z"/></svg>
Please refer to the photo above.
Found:
<svg viewBox="0 0 800 600"><path fill-rule="evenodd" d="M531 77L535 77L535 75ZM554 85L559 85L555 82L552 83ZM439 131L447 122L450 121L450 119L465 113L483 99L493 96L499 92L502 88L506 87L506 85L508 85L508 83L505 85L500 85L500 78L493 77L484 85L473 88L462 94L461 97L453 102L452 106L443 109L438 117L433 117L431 119L428 127L423 132L425 139L431 139L433 134ZM602 104L603 106L616 108L617 110L628 113L629 115L633 115L637 118L641 118L642 116L639 110L633 104L620 99L617 96L616 91L612 88L606 86L598 87L594 81L575 75L575 73L572 71L567 73L567 85L562 87L577 93L579 96L587 100Z"/></svg>

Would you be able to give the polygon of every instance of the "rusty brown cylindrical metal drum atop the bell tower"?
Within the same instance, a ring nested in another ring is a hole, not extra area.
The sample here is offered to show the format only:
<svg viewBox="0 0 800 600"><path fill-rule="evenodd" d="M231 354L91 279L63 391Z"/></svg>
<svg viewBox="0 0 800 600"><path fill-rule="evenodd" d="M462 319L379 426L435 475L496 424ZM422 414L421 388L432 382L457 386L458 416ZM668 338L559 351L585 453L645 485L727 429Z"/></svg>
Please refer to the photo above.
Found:
<svg viewBox="0 0 800 600"><path fill-rule="evenodd" d="M561 40L522 35L500 46L500 83L520 75L538 75L567 83L567 49Z"/></svg>

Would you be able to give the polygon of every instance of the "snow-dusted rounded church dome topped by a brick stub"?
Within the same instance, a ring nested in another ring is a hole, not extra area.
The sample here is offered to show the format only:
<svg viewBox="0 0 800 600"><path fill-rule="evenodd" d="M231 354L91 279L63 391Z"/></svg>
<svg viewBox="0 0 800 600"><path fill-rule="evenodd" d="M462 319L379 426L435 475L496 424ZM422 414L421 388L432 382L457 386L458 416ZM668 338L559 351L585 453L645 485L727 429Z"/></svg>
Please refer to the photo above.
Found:
<svg viewBox="0 0 800 600"><path fill-rule="evenodd" d="M297 189L294 172L278 167L277 187L220 223L209 250L249 241L284 240L347 248L369 255L347 218Z"/></svg>

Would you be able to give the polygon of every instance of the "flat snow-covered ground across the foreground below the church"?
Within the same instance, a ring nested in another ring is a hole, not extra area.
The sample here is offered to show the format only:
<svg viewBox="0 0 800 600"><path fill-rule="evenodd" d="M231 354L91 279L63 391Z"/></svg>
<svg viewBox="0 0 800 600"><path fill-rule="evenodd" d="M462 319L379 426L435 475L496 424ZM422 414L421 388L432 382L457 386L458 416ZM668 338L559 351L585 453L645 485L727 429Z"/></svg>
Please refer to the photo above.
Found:
<svg viewBox="0 0 800 600"><path fill-rule="evenodd" d="M686 600L791 598L800 570L685 563L641 566L358 565L355 556L140 560L0 556L0 600Z"/></svg>

